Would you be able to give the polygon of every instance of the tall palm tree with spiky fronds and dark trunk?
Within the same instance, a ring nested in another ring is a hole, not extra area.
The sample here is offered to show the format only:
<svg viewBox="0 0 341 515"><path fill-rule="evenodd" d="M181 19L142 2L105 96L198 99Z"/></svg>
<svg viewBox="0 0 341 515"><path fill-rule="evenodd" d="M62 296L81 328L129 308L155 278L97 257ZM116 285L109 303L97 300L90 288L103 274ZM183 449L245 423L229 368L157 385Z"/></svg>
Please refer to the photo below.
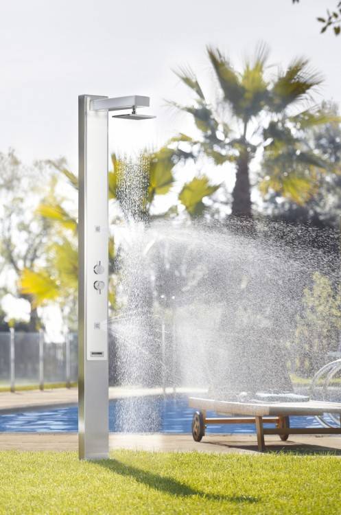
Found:
<svg viewBox="0 0 341 515"><path fill-rule="evenodd" d="M267 161L267 173L270 177L277 175L277 187L287 177L287 196L294 197L303 186L306 196L313 194L307 177L303 180L303 171L306 174L309 168L314 179L316 170L324 169L326 163L314 150L305 148L304 130L335 119L312 105L311 93L320 84L320 76L309 70L306 59L296 58L287 69L277 69L269 78L268 49L264 45L254 58L246 60L242 71L235 70L219 49L208 47L207 53L217 79L218 100L215 105L207 100L191 69L178 71L180 80L195 93L195 102L190 106L171 104L191 114L201 133L199 139L182 135L179 146L186 139L191 145L189 155L205 155L217 165L233 163L233 216L252 217L250 165L265 150L272 157ZM281 177L283 172L286 175ZM264 183L263 190L266 188Z"/></svg>

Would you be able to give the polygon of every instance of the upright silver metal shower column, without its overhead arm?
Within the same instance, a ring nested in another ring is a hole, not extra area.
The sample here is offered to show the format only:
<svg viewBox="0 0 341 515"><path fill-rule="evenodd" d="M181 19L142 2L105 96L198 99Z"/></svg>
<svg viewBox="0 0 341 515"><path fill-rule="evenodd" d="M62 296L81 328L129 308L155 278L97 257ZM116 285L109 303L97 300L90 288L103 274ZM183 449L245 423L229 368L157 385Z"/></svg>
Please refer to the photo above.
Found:
<svg viewBox="0 0 341 515"><path fill-rule="evenodd" d="M78 444L80 459L108 457L108 111L78 98ZM100 107L100 106L99 106Z"/></svg>

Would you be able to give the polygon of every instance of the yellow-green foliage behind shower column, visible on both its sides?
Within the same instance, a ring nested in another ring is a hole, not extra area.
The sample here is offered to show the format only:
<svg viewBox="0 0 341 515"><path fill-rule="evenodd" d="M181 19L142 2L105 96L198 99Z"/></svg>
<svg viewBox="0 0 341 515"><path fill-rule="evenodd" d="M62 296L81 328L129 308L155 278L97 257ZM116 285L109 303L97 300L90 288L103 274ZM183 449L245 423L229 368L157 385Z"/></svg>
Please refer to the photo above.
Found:
<svg viewBox="0 0 341 515"><path fill-rule="evenodd" d="M178 140L177 140L178 141ZM183 158L182 150L161 148L158 152L142 152L137 161L111 156L108 172L108 197L111 223L123 220L150 222L153 218L168 216L168 213L152 214L156 196L165 195L175 183L173 168ZM65 168L64 163L47 161L60 177L71 187L71 199L58 192L59 179L51 183L49 194L36 208L38 220L45 220L53 227L53 238L45 242L43 266L32 263L19 271L22 295L30 295L34 308L54 301L60 305L65 323L76 325L78 286L77 207L78 177ZM205 205L202 200L213 194L218 186L209 184L205 176L194 178L185 184L178 200L189 216L202 215ZM64 188L62 188L64 190ZM67 202L69 200L69 202ZM71 205L71 209L67 208ZM169 211L176 213L177 206ZM112 310L116 306L116 286L119 275L119 249L113 235L109 238L109 301Z"/></svg>

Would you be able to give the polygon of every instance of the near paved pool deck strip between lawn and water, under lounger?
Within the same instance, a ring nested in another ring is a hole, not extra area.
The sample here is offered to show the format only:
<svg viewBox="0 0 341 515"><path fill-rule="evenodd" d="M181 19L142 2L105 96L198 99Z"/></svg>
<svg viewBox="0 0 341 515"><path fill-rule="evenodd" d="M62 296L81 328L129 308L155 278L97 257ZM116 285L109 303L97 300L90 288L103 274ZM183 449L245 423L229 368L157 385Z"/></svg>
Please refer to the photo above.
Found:
<svg viewBox="0 0 341 515"><path fill-rule="evenodd" d="M214 454L255 454L256 435L207 435L194 442L191 435L110 433L110 450L148 450L164 453L198 451ZM77 433L0 433L0 451L77 451ZM266 437L266 452L295 452L300 454L332 454L341 457L341 437L297 436L281 442L279 437Z"/></svg>

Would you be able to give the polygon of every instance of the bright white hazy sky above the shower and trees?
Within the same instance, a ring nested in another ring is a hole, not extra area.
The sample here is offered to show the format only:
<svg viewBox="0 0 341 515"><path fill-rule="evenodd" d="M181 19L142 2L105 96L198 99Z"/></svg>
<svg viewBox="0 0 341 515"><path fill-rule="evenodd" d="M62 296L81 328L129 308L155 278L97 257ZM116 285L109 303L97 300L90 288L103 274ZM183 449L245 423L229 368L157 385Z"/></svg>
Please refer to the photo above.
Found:
<svg viewBox="0 0 341 515"><path fill-rule="evenodd" d="M336 0L1 1L0 151L23 161L65 156L77 166L78 95L150 95L155 121L115 120L110 150L158 145L190 130L163 99L186 102L172 69L209 74L205 45L237 61L265 41L272 62L305 55L325 76L322 98L340 102L341 36L320 35L316 16Z"/></svg>

